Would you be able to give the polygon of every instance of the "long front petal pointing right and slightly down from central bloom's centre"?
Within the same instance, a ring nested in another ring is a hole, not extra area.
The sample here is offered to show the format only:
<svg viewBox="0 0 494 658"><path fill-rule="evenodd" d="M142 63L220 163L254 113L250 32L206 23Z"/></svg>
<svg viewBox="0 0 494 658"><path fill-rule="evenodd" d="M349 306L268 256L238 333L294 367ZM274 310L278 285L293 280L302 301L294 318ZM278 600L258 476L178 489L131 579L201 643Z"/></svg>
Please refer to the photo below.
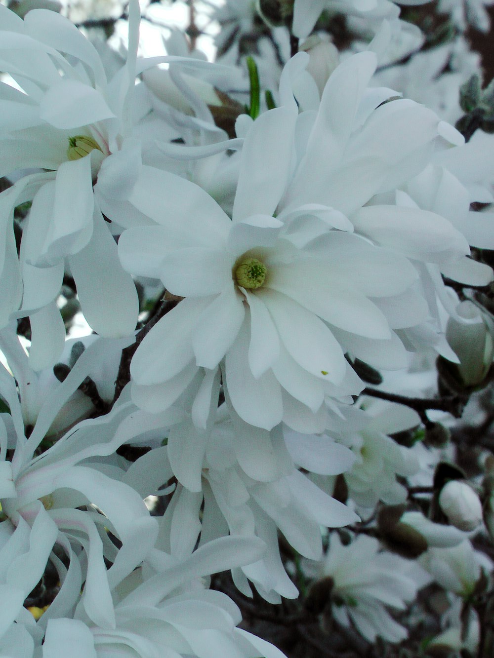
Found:
<svg viewBox="0 0 494 658"><path fill-rule="evenodd" d="M368 338L390 336L381 311L365 295L331 276L325 264L303 261L273 265L268 277L265 288L291 297L326 322Z"/></svg>

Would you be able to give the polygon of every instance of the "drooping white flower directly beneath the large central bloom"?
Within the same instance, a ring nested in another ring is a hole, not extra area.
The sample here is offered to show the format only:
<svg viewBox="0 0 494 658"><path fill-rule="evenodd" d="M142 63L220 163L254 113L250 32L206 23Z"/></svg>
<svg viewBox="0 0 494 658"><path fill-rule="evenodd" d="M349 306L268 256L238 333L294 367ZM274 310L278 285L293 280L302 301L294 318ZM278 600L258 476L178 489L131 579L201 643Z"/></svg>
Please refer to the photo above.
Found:
<svg viewBox="0 0 494 658"><path fill-rule="evenodd" d="M130 465L124 482L142 497L164 495L162 486L178 480L163 519L157 547L182 559L221 536L259 537L267 550L255 564L233 572L236 586L252 596L250 580L271 603L298 592L281 561L278 530L310 559L322 551L320 527L339 527L358 516L310 482L305 470L335 474L347 470L352 453L331 438L302 436L281 426L271 432L247 425L227 405L211 414L208 430L190 418L171 428L159 415L141 412L139 431L157 447ZM151 433L151 428L153 428ZM160 489L161 488L161 489ZM204 505L204 507L203 507Z"/></svg>

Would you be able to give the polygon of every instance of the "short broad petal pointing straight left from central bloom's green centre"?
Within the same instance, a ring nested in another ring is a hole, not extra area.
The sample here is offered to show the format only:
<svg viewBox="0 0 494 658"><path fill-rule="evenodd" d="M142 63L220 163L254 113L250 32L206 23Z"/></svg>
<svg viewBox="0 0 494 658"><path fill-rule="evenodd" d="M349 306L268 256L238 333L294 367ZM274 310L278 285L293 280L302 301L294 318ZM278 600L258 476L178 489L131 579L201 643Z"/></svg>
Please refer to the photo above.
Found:
<svg viewBox="0 0 494 658"><path fill-rule="evenodd" d="M232 263L219 249L178 249L164 255L159 278L173 295L216 295L232 285Z"/></svg>

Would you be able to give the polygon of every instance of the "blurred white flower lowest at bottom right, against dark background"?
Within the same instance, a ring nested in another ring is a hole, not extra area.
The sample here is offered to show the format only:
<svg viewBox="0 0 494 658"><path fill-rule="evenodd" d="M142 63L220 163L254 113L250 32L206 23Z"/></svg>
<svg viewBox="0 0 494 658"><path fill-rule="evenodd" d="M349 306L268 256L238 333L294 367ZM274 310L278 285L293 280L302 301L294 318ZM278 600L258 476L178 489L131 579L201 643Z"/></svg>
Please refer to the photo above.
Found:
<svg viewBox="0 0 494 658"><path fill-rule="evenodd" d="M341 544L331 534L321 576L332 581L331 612L343 626L353 623L370 642L381 636L388 642L401 642L408 633L391 617L387 607L406 609L418 586L408 576L410 563L394 553L379 551L373 537L358 535L351 544Z"/></svg>

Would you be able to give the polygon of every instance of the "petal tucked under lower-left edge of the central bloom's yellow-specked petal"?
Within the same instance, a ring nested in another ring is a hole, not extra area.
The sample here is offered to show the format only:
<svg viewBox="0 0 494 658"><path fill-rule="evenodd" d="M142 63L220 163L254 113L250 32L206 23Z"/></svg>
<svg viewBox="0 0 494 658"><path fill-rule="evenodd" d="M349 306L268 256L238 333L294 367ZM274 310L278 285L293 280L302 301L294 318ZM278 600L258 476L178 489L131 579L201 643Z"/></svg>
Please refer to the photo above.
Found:
<svg viewBox="0 0 494 658"><path fill-rule="evenodd" d="M323 384L290 357L283 343L280 345L279 359L273 364L272 370L290 395L316 413L324 400Z"/></svg>

